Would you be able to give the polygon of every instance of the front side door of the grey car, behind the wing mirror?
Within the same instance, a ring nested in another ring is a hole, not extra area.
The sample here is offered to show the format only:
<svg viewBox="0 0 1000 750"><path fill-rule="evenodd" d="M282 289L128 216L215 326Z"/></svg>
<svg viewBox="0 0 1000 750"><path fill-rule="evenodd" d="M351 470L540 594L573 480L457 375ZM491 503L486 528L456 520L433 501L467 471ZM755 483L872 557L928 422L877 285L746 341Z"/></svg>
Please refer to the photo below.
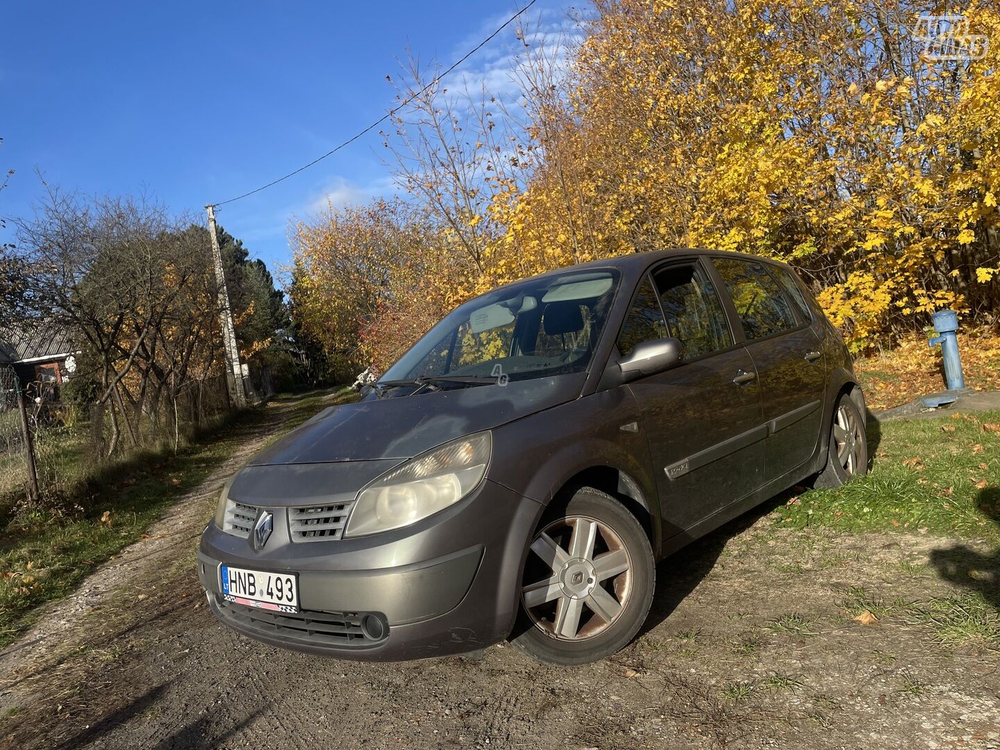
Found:
<svg viewBox="0 0 1000 750"><path fill-rule="evenodd" d="M763 483L766 433L753 360L696 259L643 278L618 348L627 355L664 336L680 340L681 363L627 387L642 409L666 539Z"/></svg>

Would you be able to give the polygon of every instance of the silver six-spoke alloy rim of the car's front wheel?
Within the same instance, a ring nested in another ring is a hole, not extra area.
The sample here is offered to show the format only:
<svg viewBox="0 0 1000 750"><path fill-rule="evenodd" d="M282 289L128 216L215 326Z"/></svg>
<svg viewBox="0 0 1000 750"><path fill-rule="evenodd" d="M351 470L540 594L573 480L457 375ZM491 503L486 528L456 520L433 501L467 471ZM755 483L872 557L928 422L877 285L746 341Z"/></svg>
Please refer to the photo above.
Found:
<svg viewBox="0 0 1000 750"><path fill-rule="evenodd" d="M592 638L621 615L632 593L632 562L621 537L586 516L560 518L531 544L524 609L546 635Z"/></svg>

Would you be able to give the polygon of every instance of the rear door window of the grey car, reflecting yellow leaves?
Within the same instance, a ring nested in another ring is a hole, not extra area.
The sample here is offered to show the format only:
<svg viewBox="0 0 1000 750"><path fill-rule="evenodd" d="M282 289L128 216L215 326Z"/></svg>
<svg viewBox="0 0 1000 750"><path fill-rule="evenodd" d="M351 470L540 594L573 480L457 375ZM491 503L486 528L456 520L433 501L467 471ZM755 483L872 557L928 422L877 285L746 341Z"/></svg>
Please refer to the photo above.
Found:
<svg viewBox="0 0 1000 750"><path fill-rule="evenodd" d="M791 302L763 263L739 258L712 258L712 263L729 291L748 340L798 326Z"/></svg>

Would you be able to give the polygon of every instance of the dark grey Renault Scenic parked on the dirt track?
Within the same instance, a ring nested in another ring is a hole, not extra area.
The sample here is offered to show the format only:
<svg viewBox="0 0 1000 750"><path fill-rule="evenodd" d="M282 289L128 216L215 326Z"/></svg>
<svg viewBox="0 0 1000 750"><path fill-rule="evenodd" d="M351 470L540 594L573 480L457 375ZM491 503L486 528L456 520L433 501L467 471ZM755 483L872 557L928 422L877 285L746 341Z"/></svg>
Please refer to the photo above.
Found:
<svg viewBox="0 0 1000 750"><path fill-rule="evenodd" d="M581 664L635 636L659 560L866 468L850 356L787 266L635 254L456 308L226 484L198 571L275 646Z"/></svg>

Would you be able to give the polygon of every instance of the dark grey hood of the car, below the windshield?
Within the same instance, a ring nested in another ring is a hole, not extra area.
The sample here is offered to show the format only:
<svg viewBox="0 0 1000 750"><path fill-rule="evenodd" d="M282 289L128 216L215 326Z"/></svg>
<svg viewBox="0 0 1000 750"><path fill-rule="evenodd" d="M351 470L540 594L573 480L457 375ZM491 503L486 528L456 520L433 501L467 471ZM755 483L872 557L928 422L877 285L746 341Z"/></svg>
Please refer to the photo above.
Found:
<svg viewBox="0 0 1000 750"><path fill-rule="evenodd" d="M512 380L333 406L254 456L250 466L407 459L580 395L586 373Z"/></svg>

